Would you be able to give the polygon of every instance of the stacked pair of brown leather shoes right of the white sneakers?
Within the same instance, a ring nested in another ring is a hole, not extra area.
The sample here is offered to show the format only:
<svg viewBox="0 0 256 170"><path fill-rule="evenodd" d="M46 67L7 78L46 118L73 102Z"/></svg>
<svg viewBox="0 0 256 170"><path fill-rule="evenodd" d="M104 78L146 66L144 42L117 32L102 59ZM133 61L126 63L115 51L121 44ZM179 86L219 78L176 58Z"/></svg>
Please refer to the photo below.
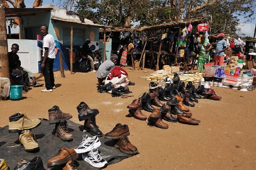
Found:
<svg viewBox="0 0 256 170"><path fill-rule="evenodd" d="M128 137L130 130L128 125L117 123L113 130L105 134L105 138L115 140L114 147L129 155L138 154L138 149L132 145Z"/></svg>

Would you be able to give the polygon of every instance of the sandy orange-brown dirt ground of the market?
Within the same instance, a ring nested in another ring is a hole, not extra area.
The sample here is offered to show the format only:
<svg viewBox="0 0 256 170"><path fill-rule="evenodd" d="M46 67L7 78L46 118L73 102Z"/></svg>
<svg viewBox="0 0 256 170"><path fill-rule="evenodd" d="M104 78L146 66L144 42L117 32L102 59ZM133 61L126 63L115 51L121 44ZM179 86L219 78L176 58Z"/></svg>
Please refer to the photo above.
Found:
<svg viewBox="0 0 256 170"><path fill-rule="evenodd" d="M135 86L129 87L134 97L124 99L97 92L96 73L70 75L66 71L66 78L61 78L60 71L54 72L57 88L53 92L41 92L44 87L32 88L20 101L0 101L0 126L8 125L9 116L16 112L30 118L48 118L47 109L53 105L71 113L72 121L81 123L76 106L84 101L90 108L99 109L97 124L103 133L117 123L129 125L129 139L140 152L106 169L255 169L256 90L242 92L216 87L214 90L222 97L221 101L199 99L195 107L190 107L193 117L201 120L199 125L165 121L169 129L163 130L126 116L126 106L148 91L149 81L139 77L154 72L127 71L135 82ZM38 82L44 82L41 74L37 76Z"/></svg>

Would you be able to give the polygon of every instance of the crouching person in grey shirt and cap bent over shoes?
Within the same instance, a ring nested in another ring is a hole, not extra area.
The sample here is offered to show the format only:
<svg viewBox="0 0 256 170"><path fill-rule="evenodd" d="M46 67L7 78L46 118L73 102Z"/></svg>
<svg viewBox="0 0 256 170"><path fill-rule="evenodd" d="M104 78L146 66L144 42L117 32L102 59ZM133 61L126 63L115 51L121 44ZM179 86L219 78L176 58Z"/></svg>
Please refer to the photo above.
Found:
<svg viewBox="0 0 256 170"><path fill-rule="evenodd" d="M116 61L117 61L117 55L112 54L110 57L110 60L106 60L103 62L97 71L97 78L99 84L103 84L103 80L105 80L108 76L108 74L114 69ZM134 82L129 82L129 86L133 86L135 83Z"/></svg>

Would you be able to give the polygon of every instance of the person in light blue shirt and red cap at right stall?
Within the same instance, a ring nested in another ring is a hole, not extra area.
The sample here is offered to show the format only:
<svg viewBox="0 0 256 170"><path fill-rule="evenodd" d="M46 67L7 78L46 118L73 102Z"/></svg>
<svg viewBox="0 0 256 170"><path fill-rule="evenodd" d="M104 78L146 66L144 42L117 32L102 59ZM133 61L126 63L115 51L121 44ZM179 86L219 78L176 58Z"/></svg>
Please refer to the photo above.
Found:
<svg viewBox="0 0 256 170"><path fill-rule="evenodd" d="M216 44L216 50L214 55L214 65L220 65L224 61L224 52L227 48L227 42L223 39L225 37L224 33L220 33L218 36L219 40Z"/></svg>

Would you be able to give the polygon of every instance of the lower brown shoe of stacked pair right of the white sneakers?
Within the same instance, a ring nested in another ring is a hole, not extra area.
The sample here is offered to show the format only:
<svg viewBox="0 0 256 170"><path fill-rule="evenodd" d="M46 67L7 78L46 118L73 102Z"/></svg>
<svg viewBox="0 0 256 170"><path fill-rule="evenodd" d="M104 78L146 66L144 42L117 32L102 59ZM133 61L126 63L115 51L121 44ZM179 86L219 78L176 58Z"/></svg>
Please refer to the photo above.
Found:
<svg viewBox="0 0 256 170"><path fill-rule="evenodd" d="M134 145L132 145L128 137L122 137L121 139L119 139L114 147L125 154L138 154L138 149Z"/></svg>

